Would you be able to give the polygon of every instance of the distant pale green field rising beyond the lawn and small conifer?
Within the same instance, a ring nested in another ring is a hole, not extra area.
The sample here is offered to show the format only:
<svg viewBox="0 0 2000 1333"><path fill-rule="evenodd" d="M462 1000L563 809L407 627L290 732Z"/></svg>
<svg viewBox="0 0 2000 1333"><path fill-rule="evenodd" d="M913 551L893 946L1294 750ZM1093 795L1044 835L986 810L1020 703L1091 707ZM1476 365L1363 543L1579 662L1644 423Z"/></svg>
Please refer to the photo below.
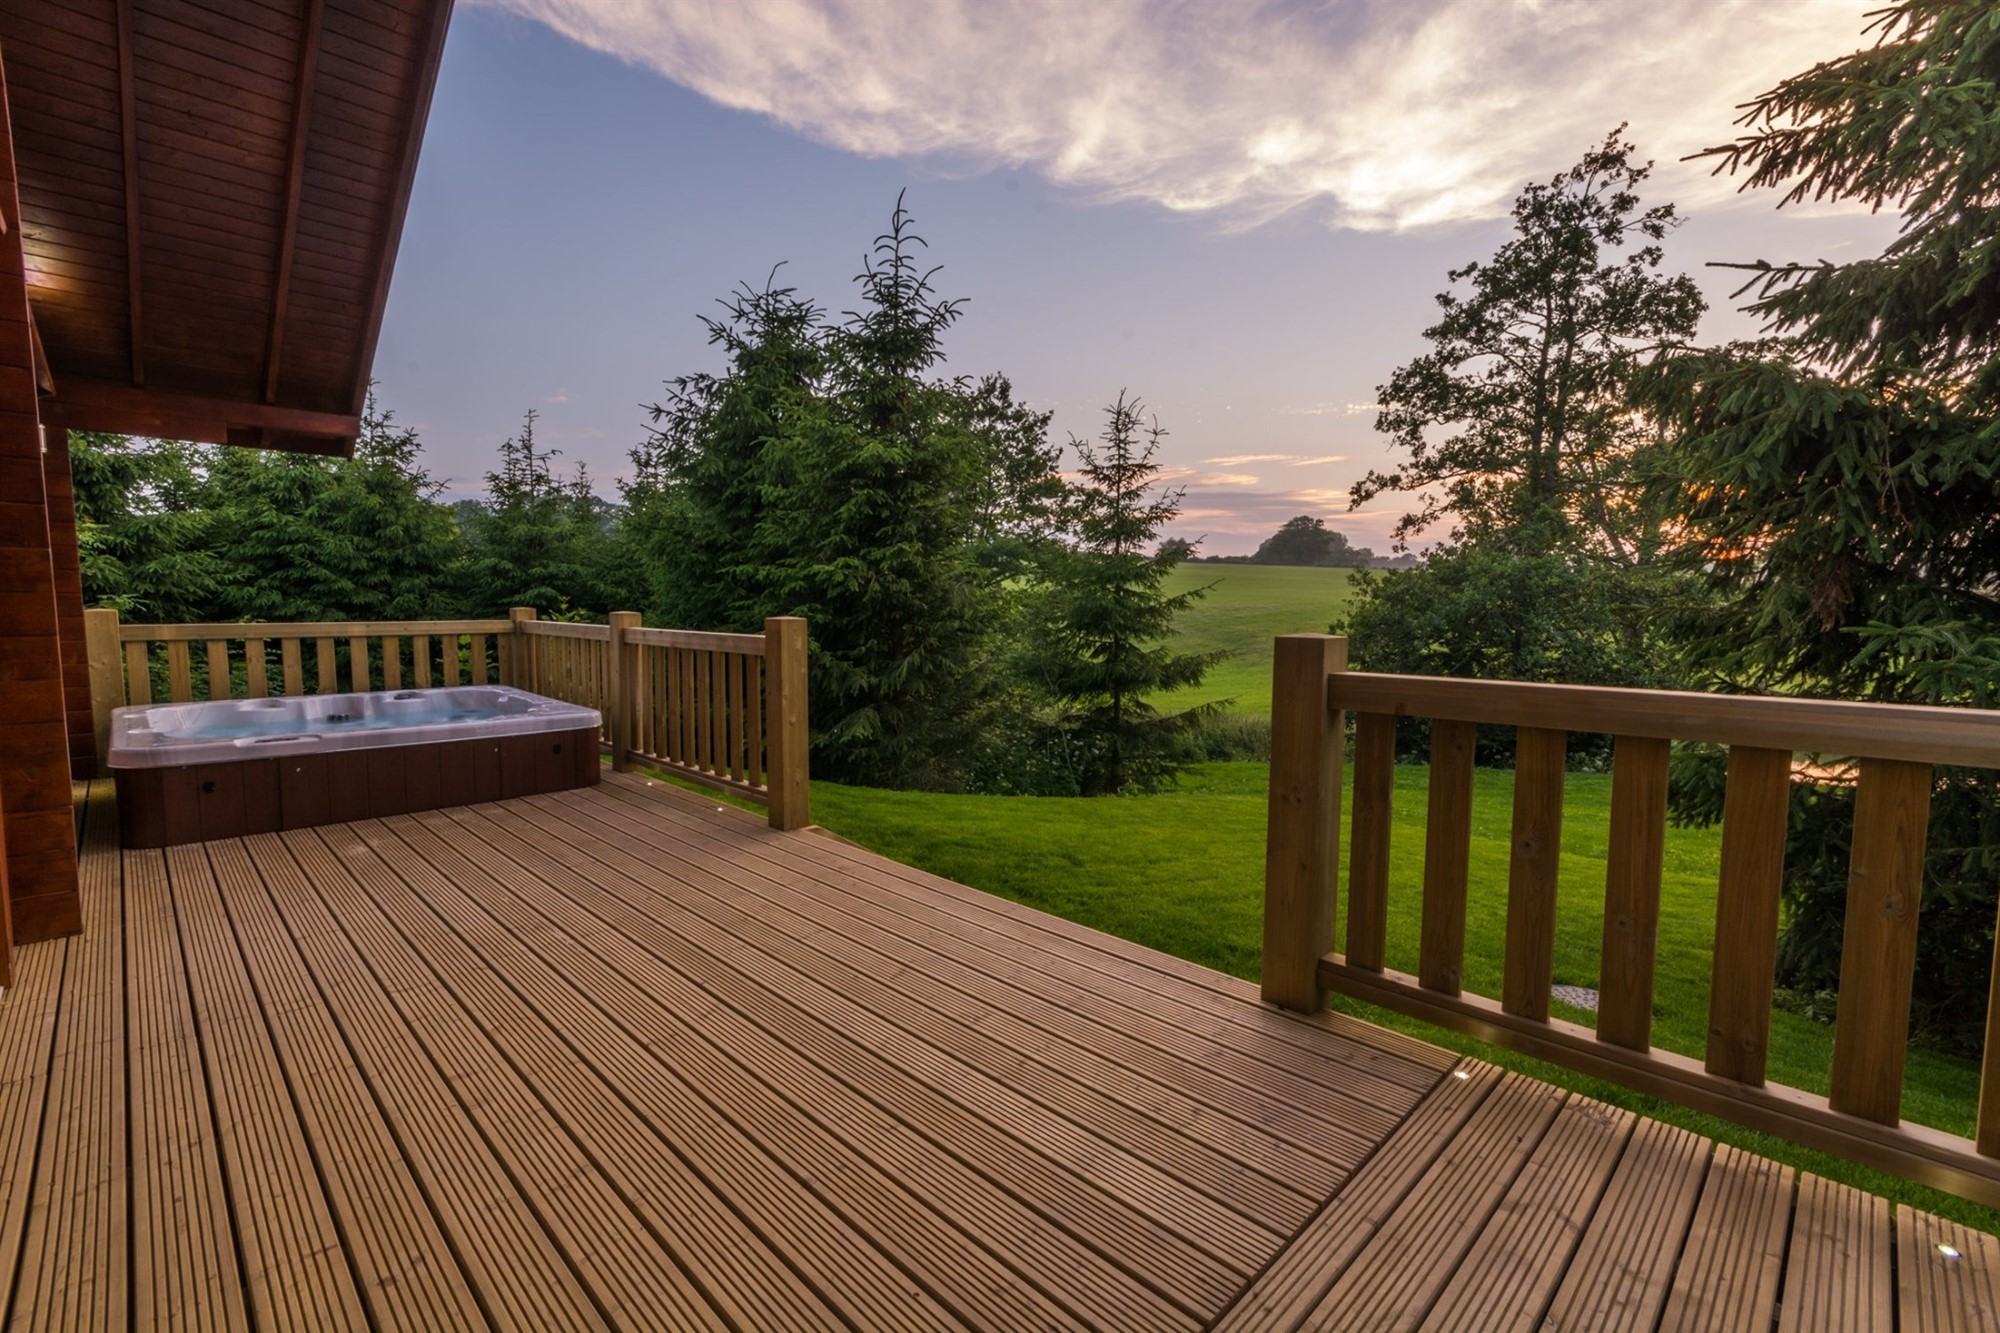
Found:
<svg viewBox="0 0 2000 1333"><path fill-rule="evenodd" d="M1166 580L1166 592L1214 588L1180 616L1174 648L1234 656L1208 673L1198 689L1176 691L1160 701L1168 709L1188 709L1216 699L1232 699L1230 713L1270 717L1270 640L1278 634L1324 634L1348 604L1354 570L1288 568L1280 564L1182 564Z"/></svg>

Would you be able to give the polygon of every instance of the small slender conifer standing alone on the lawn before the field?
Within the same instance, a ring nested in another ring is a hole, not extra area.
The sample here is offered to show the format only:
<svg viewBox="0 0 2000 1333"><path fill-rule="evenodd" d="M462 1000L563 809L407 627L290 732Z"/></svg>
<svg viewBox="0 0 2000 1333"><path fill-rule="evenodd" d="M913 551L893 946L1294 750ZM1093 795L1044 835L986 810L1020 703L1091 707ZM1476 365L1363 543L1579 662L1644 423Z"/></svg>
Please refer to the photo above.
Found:
<svg viewBox="0 0 2000 1333"><path fill-rule="evenodd" d="M1216 705L1162 715L1158 695L1190 685L1222 652L1174 652L1174 618L1206 588L1166 594L1188 546L1156 546L1180 512L1180 490L1158 490L1154 454L1166 432L1138 398L1106 408L1102 446L1072 440L1080 458L1076 546L1056 564L1052 614L1038 652L1042 689L1064 711L1084 795L1154 791L1186 767L1180 739Z"/></svg>

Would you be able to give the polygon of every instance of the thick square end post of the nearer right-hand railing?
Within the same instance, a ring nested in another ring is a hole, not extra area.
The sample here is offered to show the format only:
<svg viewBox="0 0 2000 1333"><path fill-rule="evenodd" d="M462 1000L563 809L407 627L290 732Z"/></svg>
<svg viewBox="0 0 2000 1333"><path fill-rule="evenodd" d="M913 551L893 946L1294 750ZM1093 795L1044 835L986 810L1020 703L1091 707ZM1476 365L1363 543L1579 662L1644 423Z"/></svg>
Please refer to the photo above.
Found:
<svg viewBox="0 0 2000 1333"><path fill-rule="evenodd" d="M1320 959L1334 949L1344 717L1328 677L1348 666L1348 640L1284 634L1272 652L1270 813L1264 831L1264 999L1318 1013Z"/></svg>

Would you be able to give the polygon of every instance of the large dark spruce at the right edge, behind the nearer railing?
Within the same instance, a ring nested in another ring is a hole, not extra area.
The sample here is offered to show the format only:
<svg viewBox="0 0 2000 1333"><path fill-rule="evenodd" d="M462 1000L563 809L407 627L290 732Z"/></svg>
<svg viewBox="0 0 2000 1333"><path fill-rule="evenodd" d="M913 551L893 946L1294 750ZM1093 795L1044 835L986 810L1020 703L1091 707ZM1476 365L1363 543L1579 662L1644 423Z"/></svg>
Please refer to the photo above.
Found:
<svg viewBox="0 0 2000 1333"><path fill-rule="evenodd" d="M1780 206L1896 208L1900 234L1846 264L1744 264L1770 336L1666 358L1640 390L1666 424L1662 512L1720 596L1690 626L1698 660L1738 689L1990 709L2000 10L1904 0L1872 32L1872 46L1750 102L1744 132L1710 156L1746 188L1784 190ZM1850 789L1798 785L1790 985L1838 985L1850 821ZM1986 1013L1996 883L1994 775L1940 769L1916 1015L1968 1047Z"/></svg>

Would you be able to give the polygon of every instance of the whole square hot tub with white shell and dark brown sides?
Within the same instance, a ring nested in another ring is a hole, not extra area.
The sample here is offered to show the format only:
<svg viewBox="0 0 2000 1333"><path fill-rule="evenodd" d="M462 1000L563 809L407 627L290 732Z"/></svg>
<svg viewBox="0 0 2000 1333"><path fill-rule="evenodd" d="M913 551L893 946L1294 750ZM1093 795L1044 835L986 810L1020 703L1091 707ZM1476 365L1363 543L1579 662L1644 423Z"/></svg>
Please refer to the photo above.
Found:
<svg viewBox="0 0 2000 1333"><path fill-rule="evenodd" d="M118 709L118 835L176 847L588 787L598 727L492 685Z"/></svg>

